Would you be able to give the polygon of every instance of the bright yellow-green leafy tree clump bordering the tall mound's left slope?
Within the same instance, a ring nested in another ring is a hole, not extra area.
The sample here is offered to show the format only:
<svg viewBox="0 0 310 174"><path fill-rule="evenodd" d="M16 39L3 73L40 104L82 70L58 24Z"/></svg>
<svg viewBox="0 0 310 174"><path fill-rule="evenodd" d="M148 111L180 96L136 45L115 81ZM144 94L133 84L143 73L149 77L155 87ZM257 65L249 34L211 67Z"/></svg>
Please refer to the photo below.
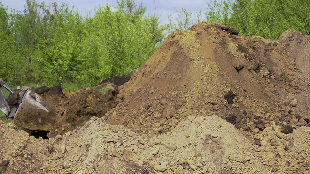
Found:
<svg viewBox="0 0 310 174"><path fill-rule="evenodd" d="M158 16L145 15L146 7L133 0L118 1L118 5L116 10L100 6L93 17L86 18L83 84L98 84L139 67L163 40L164 28L159 26Z"/></svg>

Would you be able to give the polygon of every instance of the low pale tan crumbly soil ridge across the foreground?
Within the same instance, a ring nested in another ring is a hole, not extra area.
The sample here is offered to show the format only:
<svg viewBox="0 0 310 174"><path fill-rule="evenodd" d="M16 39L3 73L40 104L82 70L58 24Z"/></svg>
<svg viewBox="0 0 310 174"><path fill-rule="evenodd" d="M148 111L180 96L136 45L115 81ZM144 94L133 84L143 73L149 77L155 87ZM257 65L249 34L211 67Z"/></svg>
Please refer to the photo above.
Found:
<svg viewBox="0 0 310 174"><path fill-rule="evenodd" d="M189 116L153 137L91 118L49 140L0 121L0 173L16 174L300 174L310 170L310 128L283 134L274 123L261 146L218 116Z"/></svg>

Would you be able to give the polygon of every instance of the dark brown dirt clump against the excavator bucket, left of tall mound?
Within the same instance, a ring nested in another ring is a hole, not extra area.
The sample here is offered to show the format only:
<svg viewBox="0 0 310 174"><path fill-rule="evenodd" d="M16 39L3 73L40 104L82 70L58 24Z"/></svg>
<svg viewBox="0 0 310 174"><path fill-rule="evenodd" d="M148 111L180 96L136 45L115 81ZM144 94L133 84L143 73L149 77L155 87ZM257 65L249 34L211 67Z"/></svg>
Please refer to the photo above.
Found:
<svg viewBox="0 0 310 174"><path fill-rule="evenodd" d="M35 137L51 138L83 126L92 116L101 117L122 99L117 98L117 86L111 83L93 88L82 88L75 93L62 91L60 86L32 89L48 102L49 113L33 108L23 108L14 118Z"/></svg>

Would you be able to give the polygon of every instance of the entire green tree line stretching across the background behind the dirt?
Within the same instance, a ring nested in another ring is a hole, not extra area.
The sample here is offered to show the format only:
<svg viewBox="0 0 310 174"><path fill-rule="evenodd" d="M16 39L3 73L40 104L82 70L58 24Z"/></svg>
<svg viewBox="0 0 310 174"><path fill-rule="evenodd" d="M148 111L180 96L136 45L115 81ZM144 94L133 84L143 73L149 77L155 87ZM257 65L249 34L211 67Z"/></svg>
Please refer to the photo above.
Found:
<svg viewBox="0 0 310 174"><path fill-rule="evenodd" d="M160 25L134 0L94 9L81 16L67 3L27 0L22 12L0 2L0 78L12 85L29 82L91 87L139 67L167 33L201 22L221 23L245 36L277 39L286 29L310 34L308 0L211 0L206 12L186 9Z"/></svg>

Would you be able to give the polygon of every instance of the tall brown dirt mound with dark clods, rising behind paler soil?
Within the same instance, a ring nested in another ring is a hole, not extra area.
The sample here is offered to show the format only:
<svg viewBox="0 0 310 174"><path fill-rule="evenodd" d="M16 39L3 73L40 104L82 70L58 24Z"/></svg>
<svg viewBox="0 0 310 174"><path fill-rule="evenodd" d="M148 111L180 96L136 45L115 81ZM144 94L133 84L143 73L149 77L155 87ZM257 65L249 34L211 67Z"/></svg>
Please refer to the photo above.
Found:
<svg viewBox="0 0 310 174"><path fill-rule="evenodd" d="M176 31L121 87L124 102L105 119L151 136L188 115L218 115L255 134L277 125L308 125L309 37L243 37L200 23ZM302 119L303 118L303 119Z"/></svg>

